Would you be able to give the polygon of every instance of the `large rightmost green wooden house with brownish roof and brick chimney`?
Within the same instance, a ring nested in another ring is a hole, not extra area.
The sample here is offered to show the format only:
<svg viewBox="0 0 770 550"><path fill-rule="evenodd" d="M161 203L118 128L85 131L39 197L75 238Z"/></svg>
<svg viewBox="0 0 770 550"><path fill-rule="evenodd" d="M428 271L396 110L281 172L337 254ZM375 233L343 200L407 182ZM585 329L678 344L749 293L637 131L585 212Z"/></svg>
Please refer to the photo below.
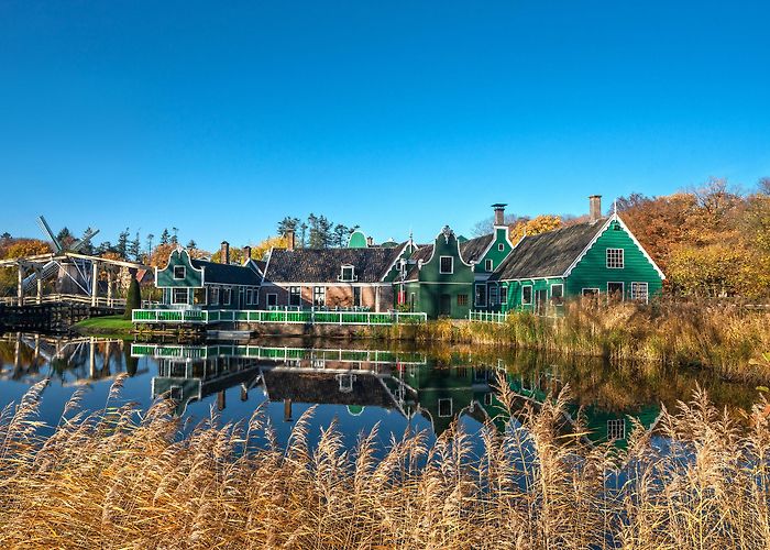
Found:
<svg viewBox="0 0 770 550"><path fill-rule="evenodd" d="M490 277L502 309L558 314L565 299L648 302L666 278L617 212L602 218L591 197L588 221L524 237Z"/></svg>

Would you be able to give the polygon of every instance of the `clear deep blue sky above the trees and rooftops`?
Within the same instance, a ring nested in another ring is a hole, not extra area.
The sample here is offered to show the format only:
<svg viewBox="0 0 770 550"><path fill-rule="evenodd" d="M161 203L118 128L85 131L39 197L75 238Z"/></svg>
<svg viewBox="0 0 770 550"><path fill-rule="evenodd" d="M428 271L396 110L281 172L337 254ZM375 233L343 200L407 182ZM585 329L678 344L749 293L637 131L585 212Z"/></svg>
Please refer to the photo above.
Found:
<svg viewBox="0 0 770 550"><path fill-rule="evenodd" d="M224 6L227 3L227 6ZM0 0L0 232L468 233L770 176L770 3Z"/></svg>

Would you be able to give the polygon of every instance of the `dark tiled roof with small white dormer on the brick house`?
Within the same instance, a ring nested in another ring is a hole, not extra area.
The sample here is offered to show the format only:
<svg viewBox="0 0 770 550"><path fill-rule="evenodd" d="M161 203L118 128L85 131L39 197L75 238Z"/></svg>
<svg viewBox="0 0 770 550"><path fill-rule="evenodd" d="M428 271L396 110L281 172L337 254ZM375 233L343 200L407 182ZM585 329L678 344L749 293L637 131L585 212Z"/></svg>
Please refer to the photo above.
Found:
<svg viewBox="0 0 770 550"><path fill-rule="evenodd" d="M342 265L353 265L359 283L378 283L404 250L393 249L274 249L265 279L274 283L337 283Z"/></svg>

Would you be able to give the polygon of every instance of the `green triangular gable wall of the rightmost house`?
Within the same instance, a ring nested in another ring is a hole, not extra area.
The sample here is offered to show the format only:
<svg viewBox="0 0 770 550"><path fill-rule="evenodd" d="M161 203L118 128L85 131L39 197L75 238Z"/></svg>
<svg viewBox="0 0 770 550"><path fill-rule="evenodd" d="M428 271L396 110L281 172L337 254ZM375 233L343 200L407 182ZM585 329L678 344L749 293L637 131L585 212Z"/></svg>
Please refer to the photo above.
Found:
<svg viewBox="0 0 770 550"><path fill-rule="evenodd" d="M624 267L607 268L607 249L624 250ZM617 221L613 221L600 235L594 245L572 270L566 279L566 296L581 296L583 288L598 288L600 295L607 296L607 283L624 283L624 297L631 298L631 282L647 283L649 296L659 294L662 279L631 237Z"/></svg>

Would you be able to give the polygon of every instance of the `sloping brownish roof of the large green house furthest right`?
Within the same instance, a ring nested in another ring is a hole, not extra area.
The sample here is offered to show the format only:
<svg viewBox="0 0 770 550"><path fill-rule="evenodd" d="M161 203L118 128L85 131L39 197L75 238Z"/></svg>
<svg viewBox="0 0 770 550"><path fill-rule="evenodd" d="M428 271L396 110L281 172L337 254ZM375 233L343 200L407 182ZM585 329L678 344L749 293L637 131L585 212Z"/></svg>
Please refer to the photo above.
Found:
<svg viewBox="0 0 770 550"><path fill-rule="evenodd" d="M606 219L576 223L538 235L525 237L492 275L492 280L560 277L572 265Z"/></svg>

